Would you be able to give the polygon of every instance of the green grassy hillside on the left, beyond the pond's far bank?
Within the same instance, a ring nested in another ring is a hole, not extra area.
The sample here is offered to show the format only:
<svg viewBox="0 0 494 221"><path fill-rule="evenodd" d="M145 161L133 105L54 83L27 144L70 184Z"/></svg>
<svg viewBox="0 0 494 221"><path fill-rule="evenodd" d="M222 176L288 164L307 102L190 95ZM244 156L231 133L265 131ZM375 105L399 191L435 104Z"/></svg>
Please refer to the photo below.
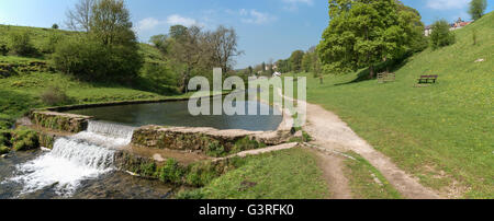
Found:
<svg viewBox="0 0 494 221"><path fill-rule="evenodd" d="M29 32L37 50L43 48L49 35L78 34L52 28L0 25L0 45L7 44L9 34L12 32ZM155 47L139 44L139 48L146 62L166 62ZM166 97L165 94L148 92L145 85L137 90L109 82L81 82L70 75L49 70L48 63L49 55L42 54L35 58L0 55L0 128L8 127L13 119L22 116L30 108L46 106L40 96L50 86L64 89L70 98L70 104Z"/></svg>

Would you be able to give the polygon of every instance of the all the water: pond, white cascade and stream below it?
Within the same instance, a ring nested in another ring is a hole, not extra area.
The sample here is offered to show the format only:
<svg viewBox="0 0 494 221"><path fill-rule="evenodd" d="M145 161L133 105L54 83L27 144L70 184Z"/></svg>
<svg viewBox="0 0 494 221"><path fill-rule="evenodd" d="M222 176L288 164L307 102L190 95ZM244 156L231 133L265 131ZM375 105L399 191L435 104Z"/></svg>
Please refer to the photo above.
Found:
<svg viewBox="0 0 494 221"><path fill-rule="evenodd" d="M12 152L8 159L0 159L0 199L167 198L172 191L170 185L130 176L114 167L115 152L131 142L134 127L166 125L252 131L278 128L282 116L259 103L258 111L261 109L268 109L269 115L191 116L188 102L72 111L93 116L98 121L89 121L86 131L58 138L50 151Z"/></svg>

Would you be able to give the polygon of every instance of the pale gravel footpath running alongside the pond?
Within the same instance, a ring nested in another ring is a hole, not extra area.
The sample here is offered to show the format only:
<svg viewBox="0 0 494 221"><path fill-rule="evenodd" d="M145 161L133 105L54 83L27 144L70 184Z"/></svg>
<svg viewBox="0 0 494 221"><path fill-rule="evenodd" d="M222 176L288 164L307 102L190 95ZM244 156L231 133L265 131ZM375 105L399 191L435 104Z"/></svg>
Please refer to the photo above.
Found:
<svg viewBox="0 0 494 221"><path fill-rule="evenodd" d="M299 101L299 105L302 102ZM314 138L313 144L330 151L353 151L364 158L396 188L405 198L409 199L436 199L439 195L434 190L422 186L417 178L406 174L398 168L390 158L373 149L367 141L356 135L346 123L337 115L324 109L318 105L302 103L307 107L307 123L304 130ZM323 171L333 167L333 174L343 173L341 164L334 163L335 159L327 159L328 167L323 166ZM326 173L325 173L326 174ZM333 175L335 177L345 177L344 174ZM330 177L329 177L330 178ZM335 181L330 185L347 185L346 181ZM334 190L348 189L334 186ZM346 193L343 193L346 196Z"/></svg>

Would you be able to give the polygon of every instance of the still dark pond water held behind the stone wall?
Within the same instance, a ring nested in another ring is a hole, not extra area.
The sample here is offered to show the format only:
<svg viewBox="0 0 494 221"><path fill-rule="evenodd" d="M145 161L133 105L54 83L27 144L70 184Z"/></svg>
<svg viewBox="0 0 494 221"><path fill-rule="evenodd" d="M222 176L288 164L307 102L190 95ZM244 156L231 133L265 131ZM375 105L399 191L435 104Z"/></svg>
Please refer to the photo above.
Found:
<svg viewBox="0 0 494 221"><path fill-rule="evenodd" d="M246 113L248 113L249 103L250 102L246 102ZM269 105L262 103L257 104L258 113L261 113L261 109L268 108L269 115L192 116L189 113L187 101L94 107L70 111L68 113L93 116L98 120L121 123L135 127L145 125L162 125L213 127L216 129L245 129L251 131L276 130L281 124L282 116L278 111L271 108Z"/></svg>

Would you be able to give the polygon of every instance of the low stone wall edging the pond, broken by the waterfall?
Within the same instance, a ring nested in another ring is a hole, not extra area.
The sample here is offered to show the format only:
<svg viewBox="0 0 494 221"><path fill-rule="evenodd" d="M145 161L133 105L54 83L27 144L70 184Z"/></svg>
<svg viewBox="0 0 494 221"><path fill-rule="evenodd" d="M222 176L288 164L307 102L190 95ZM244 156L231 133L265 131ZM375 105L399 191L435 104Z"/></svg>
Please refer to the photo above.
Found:
<svg viewBox="0 0 494 221"><path fill-rule="evenodd" d="M183 101L182 98L166 100L168 102ZM34 109L30 113L32 123L38 127L57 131L77 133L88 127L90 116L66 114L77 108L97 106L125 105L149 103L150 101L117 102L105 104L75 105ZM164 102L164 101L153 101ZM213 128L162 127L144 126L134 131L132 144L151 149L169 149L179 151L201 152L238 152L257 149L262 146L277 146L287 142L292 136L293 119L283 113L283 120L276 131L218 130ZM213 153L214 155L214 153Z"/></svg>

